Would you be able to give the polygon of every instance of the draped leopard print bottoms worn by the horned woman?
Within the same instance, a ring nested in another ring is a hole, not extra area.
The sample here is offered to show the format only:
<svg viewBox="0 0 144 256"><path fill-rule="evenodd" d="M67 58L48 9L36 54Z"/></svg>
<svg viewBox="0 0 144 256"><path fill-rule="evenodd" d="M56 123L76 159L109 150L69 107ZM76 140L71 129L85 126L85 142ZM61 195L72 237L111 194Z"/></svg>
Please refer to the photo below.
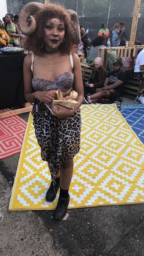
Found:
<svg viewBox="0 0 144 256"><path fill-rule="evenodd" d="M79 152L81 134L81 111L78 109L71 117L58 119L43 103L38 111L32 111L35 136L41 148L41 158L47 161L51 178L55 177L65 160L73 159Z"/></svg>

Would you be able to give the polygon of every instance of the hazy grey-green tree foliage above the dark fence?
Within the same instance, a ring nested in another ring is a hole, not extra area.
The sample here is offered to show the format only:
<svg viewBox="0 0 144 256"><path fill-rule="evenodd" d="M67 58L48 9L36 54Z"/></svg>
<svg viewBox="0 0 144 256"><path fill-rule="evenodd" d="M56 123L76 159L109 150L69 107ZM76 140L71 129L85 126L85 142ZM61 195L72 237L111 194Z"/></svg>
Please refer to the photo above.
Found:
<svg viewBox="0 0 144 256"><path fill-rule="evenodd" d="M72 10L76 10L76 1L78 1L79 16L107 18L109 0L49 0L49 2L65 5L67 9ZM134 0L131 1L133 6ZM45 0L7 0L7 10L11 13L18 13L28 2L42 2L44 4ZM128 5L128 2L125 2L125 5ZM120 8L121 10L119 10ZM121 12L121 16L133 15L131 8L127 8L126 10L123 9L121 0L111 0L110 16L118 16L119 12ZM144 16L144 0L142 0L140 13Z"/></svg>

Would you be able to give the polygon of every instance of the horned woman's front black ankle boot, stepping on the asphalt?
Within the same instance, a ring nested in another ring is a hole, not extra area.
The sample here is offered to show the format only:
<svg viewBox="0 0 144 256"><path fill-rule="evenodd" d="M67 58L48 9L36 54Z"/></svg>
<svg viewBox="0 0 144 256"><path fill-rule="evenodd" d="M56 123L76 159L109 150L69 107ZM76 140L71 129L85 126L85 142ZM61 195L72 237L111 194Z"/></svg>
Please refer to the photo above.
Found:
<svg viewBox="0 0 144 256"><path fill-rule="evenodd" d="M60 219L63 219L65 217L69 202L70 202L70 196L68 198L59 197L57 207L54 211L55 221L60 221Z"/></svg>

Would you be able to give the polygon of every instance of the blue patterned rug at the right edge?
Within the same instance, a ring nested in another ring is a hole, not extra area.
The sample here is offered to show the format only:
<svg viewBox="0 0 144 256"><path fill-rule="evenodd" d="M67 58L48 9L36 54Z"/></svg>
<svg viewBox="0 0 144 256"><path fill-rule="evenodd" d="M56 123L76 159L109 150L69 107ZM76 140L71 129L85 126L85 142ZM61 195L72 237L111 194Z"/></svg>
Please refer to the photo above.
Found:
<svg viewBox="0 0 144 256"><path fill-rule="evenodd" d="M131 125L132 130L137 134L140 141L144 143L144 105L122 104L121 114Z"/></svg>

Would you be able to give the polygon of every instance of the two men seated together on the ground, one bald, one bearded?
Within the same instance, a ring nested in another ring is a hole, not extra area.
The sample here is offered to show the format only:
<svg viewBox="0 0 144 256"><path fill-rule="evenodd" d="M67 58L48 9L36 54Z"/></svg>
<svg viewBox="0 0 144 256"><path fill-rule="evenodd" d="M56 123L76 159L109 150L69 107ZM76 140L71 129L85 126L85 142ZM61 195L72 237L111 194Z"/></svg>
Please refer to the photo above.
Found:
<svg viewBox="0 0 144 256"><path fill-rule="evenodd" d="M123 93L126 74L122 70L123 63L120 59L113 62L113 71L107 72L103 67L102 59L96 57L95 68L87 83L84 82L84 101L87 104L99 103L99 99L109 99L113 103Z"/></svg>

